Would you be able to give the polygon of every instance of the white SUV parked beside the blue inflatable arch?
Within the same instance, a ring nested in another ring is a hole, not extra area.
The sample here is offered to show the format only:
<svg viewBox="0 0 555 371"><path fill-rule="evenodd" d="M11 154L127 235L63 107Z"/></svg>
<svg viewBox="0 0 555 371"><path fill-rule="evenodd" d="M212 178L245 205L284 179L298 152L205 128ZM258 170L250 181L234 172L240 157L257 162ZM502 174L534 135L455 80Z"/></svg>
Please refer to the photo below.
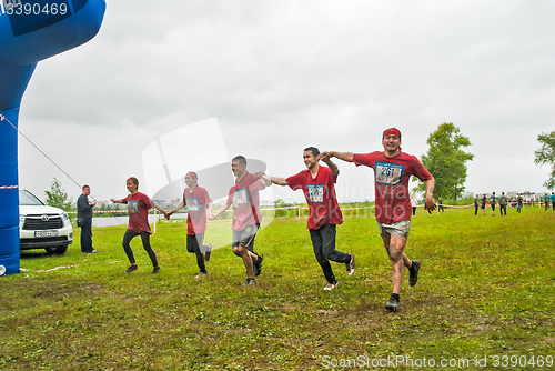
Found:
<svg viewBox="0 0 555 371"><path fill-rule="evenodd" d="M49 254L63 254L73 242L73 228L68 213L48 207L28 190L19 191L20 250L44 249Z"/></svg>

